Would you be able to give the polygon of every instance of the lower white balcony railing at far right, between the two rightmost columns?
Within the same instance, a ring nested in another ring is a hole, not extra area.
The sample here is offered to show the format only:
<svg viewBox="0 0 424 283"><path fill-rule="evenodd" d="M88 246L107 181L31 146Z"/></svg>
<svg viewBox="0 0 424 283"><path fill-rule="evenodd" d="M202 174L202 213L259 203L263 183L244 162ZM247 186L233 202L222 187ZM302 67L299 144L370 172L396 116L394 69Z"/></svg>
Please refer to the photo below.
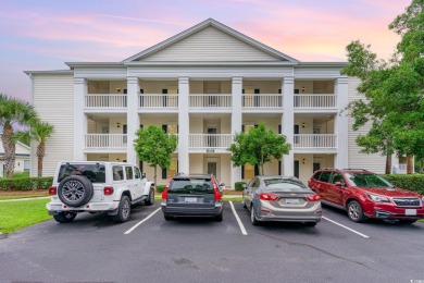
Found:
<svg viewBox="0 0 424 283"><path fill-rule="evenodd" d="M296 153L334 152L337 150L337 135L335 134L295 135L292 146Z"/></svg>

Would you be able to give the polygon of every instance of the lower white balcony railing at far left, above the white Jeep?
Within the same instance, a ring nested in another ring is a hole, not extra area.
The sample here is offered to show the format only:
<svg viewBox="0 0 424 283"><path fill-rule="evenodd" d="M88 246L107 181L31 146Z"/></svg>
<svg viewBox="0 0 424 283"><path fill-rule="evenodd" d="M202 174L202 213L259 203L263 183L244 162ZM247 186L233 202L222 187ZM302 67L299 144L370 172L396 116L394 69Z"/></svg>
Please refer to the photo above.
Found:
<svg viewBox="0 0 424 283"><path fill-rule="evenodd" d="M86 134L85 151L103 152L103 151L126 151L127 135L125 134Z"/></svg>

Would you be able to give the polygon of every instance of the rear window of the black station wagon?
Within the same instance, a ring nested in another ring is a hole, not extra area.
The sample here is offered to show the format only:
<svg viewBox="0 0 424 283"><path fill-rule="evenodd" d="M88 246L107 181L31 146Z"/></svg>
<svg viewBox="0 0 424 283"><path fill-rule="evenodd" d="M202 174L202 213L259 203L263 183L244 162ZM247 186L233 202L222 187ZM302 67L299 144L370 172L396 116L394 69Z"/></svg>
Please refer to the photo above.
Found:
<svg viewBox="0 0 424 283"><path fill-rule="evenodd" d="M211 179L174 179L170 184L170 193L213 194Z"/></svg>

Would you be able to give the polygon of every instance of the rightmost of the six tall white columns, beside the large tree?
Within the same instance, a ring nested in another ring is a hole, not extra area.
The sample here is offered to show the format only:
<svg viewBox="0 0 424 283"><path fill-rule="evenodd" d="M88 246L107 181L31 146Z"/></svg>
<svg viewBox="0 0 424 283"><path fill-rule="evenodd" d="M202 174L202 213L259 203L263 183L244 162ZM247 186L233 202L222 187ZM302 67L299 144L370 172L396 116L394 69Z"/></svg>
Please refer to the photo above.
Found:
<svg viewBox="0 0 424 283"><path fill-rule="evenodd" d="M348 77L339 77L336 79L334 91L337 99L337 110L341 111L349 103L348 100ZM334 167L338 169L349 167L348 155L348 136L349 136L349 118L344 112L341 115L336 115L334 128L337 135L337 155L335 157Z"/></svg>

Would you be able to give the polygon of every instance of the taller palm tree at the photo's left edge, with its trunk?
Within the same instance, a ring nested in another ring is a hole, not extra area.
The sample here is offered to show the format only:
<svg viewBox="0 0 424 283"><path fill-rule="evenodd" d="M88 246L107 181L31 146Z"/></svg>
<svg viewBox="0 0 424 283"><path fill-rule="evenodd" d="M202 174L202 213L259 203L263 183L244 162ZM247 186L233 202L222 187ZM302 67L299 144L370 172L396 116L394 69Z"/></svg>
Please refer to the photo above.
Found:
<svg viewBox="0 0 424 283"><path fill-rule="evenodd" d="M0 94L0 127L3 128L1 133L1 142L4 148L4 161L8 177L13 176L15 167L16 138L13 126L28 125L37 119L38 115L32 104Z"/></svg>

